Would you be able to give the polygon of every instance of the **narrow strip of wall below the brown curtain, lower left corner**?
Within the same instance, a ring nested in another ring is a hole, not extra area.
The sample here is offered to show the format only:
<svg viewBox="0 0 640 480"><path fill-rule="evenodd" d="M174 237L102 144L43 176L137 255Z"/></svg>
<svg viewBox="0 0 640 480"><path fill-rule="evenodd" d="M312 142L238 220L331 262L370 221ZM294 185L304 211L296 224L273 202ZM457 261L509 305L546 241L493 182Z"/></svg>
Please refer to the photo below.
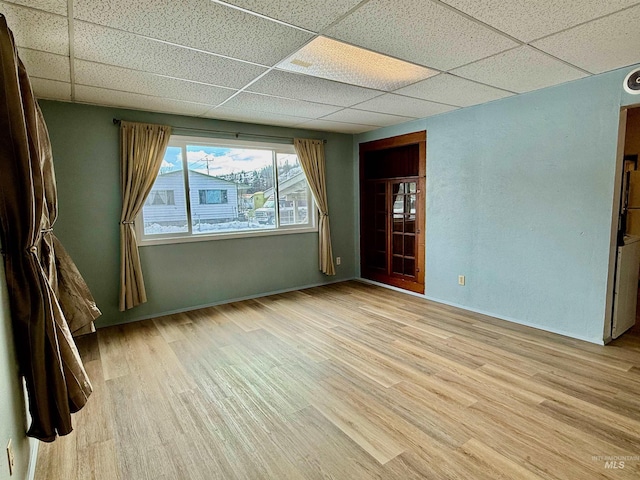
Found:
<svg viewBox="0 0 640 480"><path fill-rule="evenodd" d="M30 448L26 431L24 393L13 344L9 294L4 262L0 261L0 480L27 478ZM5 450L9 439L12 439L15 451L16 469L12 477L9 477Z"/></svg>

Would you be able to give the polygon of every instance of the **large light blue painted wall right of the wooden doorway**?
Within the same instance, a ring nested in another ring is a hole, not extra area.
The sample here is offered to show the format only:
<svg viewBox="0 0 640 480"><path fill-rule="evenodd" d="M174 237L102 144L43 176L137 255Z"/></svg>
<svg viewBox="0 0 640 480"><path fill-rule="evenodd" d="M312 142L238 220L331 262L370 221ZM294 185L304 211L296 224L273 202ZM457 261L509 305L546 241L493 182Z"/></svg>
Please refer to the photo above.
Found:
<svg viewBox="0 0 640 480"><path fill-rule="evenodd" d="M428 298L602 343L630 70L356 136L427 131Z"/></svg>

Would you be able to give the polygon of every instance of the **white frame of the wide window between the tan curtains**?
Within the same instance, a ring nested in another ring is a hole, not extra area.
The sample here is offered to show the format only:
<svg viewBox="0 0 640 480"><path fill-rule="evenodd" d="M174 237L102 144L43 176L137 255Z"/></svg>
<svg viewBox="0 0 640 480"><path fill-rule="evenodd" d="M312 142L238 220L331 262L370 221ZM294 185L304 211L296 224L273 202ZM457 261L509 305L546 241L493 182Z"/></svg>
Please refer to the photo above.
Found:
<svg viewBox="0 0 640 480"><path fill-rule="evenodd" d="M225 240L233 238L247 238L247 237L264 237L270 235L290 235L294 233L310 233L318 231L318 207L316 206L313 194L309 188L309 194L307 199L308 215L310 222L304 225L280 225L279 210L275 208L275 228L272 229L256 229L256 230L244 230L239 232L216 232L216 233L198 233L192 232L193 222L191 218L191 202L190 202L190 190L189 190L189 171L188 171L188 159L186 156L187 145L196 146L215 146L215 147L229 147L229 148L249 148L253 150L271 150L273 152L273 166L274 166L274 202L275 206L279 206L279 185L278 185L278 164L277 154L296 154L295 148L291 144L282 143L269 143L262 141L247 141L238 139L224 139L214 137L196 137L196 136L184 136L184 135L171 135L168 147L178 147L182 149L182 171L184 177L185 195L187 198L186 214L187 214L187 226L188 231L182 233L166 233L166 234L154 234L145 235L144 233L144 220L143 209L140 209L140 213L135 219L135 230L138 238L138 246L150 246L150 245L165 245L171 243L188 243L188 242L205 242L212 240ZM308 187L308 182L307 182ZM143 207L144 208L144 207Z"/></svg>

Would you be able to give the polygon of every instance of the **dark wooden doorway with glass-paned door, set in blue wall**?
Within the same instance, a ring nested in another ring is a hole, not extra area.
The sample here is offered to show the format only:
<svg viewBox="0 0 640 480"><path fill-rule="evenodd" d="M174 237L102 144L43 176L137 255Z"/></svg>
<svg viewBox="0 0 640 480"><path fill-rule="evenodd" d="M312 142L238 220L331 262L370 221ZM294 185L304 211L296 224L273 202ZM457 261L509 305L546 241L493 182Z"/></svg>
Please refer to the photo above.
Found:
<svg viewBox="0 0 640 480"><path fill-rule="evenodd" d="M422 134L398 147L389 147L388 139L380 150L364 144L360 152L362 277L419 293L424 293L425 247Z"/></svg>

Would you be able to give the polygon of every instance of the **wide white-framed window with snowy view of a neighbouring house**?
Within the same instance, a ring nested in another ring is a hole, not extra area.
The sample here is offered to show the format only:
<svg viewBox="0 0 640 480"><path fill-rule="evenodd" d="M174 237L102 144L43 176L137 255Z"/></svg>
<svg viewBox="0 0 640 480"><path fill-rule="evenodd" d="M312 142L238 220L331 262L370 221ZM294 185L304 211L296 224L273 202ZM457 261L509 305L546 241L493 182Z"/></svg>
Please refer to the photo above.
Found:
<svg viewBox="0 0 640 480"><path fill-rule="evenodd" d="M136 221L141 244L315 230L293 145L172 136Z"/></svg>

